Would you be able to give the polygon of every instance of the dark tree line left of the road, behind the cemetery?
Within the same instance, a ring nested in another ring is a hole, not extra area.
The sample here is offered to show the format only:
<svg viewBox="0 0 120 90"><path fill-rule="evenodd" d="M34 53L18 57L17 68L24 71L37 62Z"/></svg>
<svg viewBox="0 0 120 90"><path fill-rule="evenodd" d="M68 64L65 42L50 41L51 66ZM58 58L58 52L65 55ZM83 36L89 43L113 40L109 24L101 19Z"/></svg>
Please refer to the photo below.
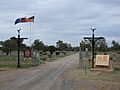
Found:
<svg viewBox="0 0 120 90"><path fill-rule="evenodd" d="M20 50L26 51L30 49L35 49L37 51L50 51L52 54L54 51L78 51L79 47L72 47L71 44L65 43L62 40L58 40L55 45L45 45L40 39L34 40L32 47L27 46L23 43L23 40L20 41ZM17 39L16 37L11 37L5 41L0 41L0 50L5 52L7 55L12 51L17 51Z"/></svg>

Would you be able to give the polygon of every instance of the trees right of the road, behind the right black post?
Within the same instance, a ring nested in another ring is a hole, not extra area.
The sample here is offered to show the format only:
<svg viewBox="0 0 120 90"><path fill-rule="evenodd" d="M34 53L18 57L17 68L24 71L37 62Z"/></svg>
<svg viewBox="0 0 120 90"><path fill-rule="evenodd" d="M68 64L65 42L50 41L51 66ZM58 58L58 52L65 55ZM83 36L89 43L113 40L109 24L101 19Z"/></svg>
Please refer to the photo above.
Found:
<svg viewBox="0 0 120 90"><path fill-rule="evenodd" d="M106 51L117 51L120 52L120 43L112 40L111 42L112 46L108 47L108 44L106 42L106 40L98 40L95 43L95 50L96 51L100 51L100 52L106 52ZM92 50L92 43L90 41L85 41L82 40L80 42L80 46L82 48L83 51L85 51L85 49L87 48L89 51Z"/></svg>

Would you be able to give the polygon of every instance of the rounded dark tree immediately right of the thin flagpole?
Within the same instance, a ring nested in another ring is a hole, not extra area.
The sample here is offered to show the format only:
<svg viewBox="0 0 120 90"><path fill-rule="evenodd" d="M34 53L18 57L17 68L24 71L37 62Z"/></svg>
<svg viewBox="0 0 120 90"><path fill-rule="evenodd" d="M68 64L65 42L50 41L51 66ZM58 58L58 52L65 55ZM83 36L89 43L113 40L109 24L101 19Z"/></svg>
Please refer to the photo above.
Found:
<svg viewBox="0 0 120 90"><path fill-rule="evenodd" d="M45 46L44 46L44 43L43 41L40 41L39 39L36 39L34 42L33 42L33 48L40 51L40 50L44 50L45 49Z"/></svg>

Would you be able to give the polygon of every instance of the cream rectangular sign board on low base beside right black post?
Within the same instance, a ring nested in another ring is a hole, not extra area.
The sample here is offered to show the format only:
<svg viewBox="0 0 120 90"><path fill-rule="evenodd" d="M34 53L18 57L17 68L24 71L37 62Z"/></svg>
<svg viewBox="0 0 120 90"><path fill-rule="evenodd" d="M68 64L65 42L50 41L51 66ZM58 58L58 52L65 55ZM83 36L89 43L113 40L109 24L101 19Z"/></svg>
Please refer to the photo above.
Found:
<svg viewBox="0 0 120 90"><path fill-rule="evenodd" d="M95 66L109 66L109 55L96 55Z"/></svg>

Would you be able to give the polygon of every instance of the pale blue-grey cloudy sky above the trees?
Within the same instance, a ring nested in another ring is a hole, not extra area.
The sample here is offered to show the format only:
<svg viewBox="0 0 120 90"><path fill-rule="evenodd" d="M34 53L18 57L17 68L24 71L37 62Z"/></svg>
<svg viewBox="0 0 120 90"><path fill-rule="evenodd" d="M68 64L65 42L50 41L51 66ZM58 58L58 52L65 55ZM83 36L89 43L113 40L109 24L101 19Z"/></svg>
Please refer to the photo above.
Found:
<svg viewBox="0 0 120 90"><path fill-rule="evenodd" d="M34 23L18 23L17 18L34 15ZM79 46L83 37L95 36L120 43L120 0L0 0L0 41L17 37L55 45L58 40Z"/></svg>

